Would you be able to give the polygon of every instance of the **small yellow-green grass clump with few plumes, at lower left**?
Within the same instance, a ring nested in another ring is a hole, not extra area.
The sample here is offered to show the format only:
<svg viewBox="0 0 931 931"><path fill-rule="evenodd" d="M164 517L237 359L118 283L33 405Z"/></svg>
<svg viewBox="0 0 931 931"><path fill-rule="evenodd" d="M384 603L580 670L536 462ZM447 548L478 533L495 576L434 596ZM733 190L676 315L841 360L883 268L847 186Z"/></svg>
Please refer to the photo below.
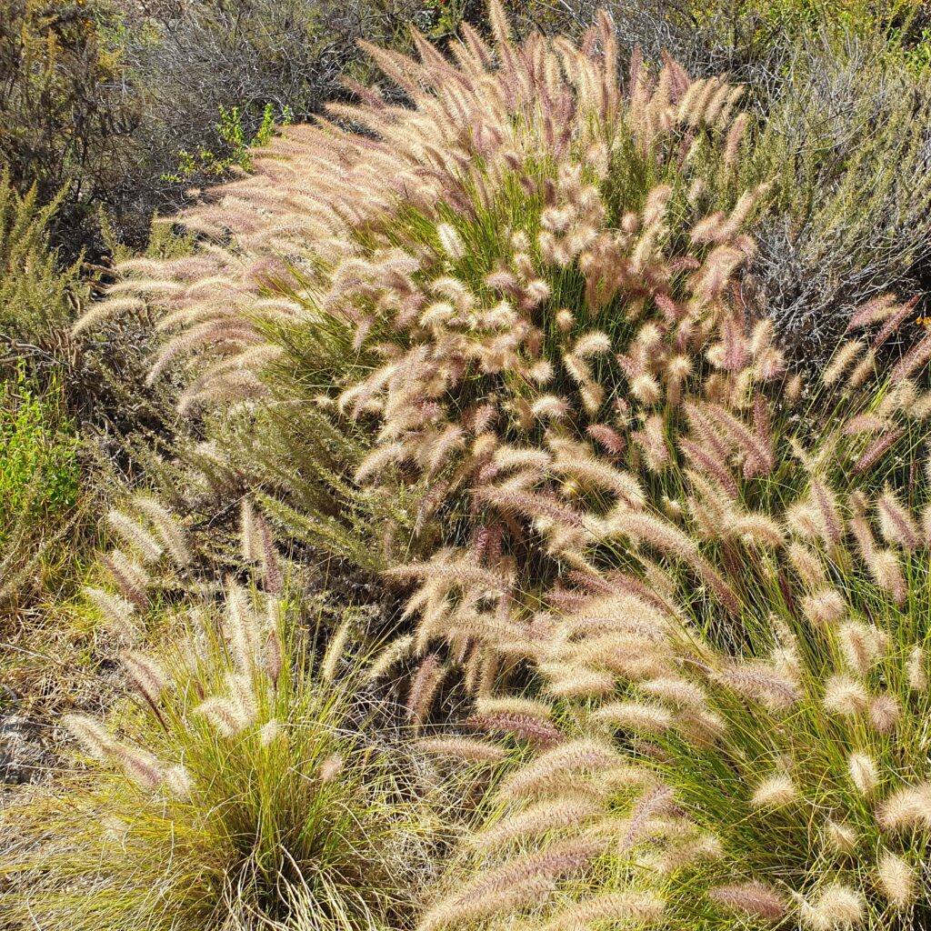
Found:
<svg viewBox="0 0 931 931"><path fill-rule="evenodd" d="M122 654L135 699L108 725L66 720L88 773L11 813L14 926L374 931L410 915L428 810L300 610L231 582L157 661Z"/></svg>

